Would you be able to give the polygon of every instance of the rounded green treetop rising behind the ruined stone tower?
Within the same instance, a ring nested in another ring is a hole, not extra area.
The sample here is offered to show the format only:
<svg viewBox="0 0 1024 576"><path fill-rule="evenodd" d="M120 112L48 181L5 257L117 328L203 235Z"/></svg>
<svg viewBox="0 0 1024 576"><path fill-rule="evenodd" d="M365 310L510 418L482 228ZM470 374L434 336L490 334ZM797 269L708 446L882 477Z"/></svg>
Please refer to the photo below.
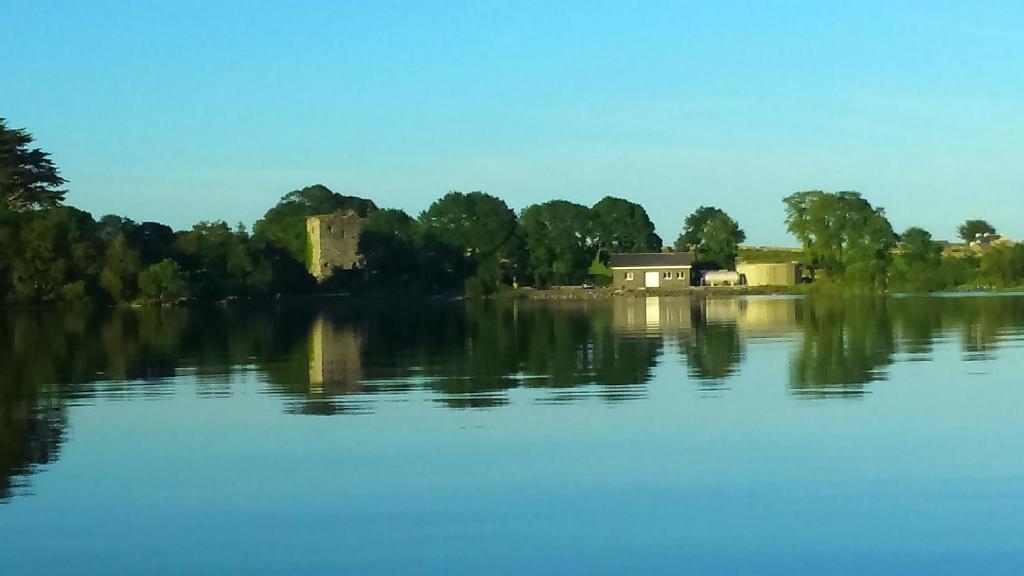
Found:
<svg viewBox="0 0 1024 576"><path fill-rule="evenodd" d="M372 200L342 196L323 184L306 187L286 194L278 205L263 214L253 227L261 241L281 246L299 262L306 263L306 216L352 210L366 216L377 209Z"/></svg>

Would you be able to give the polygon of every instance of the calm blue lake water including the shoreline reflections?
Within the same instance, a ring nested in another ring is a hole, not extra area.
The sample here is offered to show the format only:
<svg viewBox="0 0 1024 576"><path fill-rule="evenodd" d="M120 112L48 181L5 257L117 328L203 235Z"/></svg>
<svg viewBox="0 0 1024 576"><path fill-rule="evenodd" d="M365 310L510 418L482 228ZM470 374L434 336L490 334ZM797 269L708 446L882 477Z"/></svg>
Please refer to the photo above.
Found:
<svg viewBox="0 0 1024 576"><path fill-rule="evenodd" d="M1024 572L1024 296L0 316L0 574Z"/></svg>

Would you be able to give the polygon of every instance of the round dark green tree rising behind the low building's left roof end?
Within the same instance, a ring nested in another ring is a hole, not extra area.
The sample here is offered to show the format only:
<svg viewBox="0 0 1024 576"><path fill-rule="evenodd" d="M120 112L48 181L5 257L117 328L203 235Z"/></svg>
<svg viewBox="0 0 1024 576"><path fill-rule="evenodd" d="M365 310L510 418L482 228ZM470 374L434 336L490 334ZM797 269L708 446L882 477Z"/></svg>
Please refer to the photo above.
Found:
<svg viewBox="0 0 1024 576"><path fill-rule="evenodd" d="M658 252L662 238L643 206L606 196L590 209L593 244L605 252Z"/></svg>

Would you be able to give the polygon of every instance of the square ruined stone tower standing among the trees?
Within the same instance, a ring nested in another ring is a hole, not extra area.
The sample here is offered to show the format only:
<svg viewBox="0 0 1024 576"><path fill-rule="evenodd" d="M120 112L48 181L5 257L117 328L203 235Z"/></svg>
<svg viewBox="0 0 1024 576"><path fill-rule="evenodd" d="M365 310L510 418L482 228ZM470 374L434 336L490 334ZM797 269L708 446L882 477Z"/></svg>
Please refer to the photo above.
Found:
<svg viewBox="0 0 1024 576"><path fill-rule="evenodd" d="M352 270L362 262L359 232L362 218L351 210L306 218L309 274L316 280L331 276L336 268Z"/></svg>

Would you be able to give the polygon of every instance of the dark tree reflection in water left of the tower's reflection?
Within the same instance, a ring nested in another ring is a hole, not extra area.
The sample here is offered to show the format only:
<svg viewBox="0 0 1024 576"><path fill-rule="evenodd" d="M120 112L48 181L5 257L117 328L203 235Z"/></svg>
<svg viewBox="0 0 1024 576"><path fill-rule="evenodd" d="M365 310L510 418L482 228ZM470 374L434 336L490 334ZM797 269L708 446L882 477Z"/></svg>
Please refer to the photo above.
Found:
<svg viewBox="0 0 1024 576"><path fill-rule="evenodd" d="M181 368L223 375L279 358L295 347L288 329L295 316L222 307L0 311L0 499L22 484L18 477L57 457L67 399L169 394L151 384ZM202 393L226 381L197 385Z"/></svg>

